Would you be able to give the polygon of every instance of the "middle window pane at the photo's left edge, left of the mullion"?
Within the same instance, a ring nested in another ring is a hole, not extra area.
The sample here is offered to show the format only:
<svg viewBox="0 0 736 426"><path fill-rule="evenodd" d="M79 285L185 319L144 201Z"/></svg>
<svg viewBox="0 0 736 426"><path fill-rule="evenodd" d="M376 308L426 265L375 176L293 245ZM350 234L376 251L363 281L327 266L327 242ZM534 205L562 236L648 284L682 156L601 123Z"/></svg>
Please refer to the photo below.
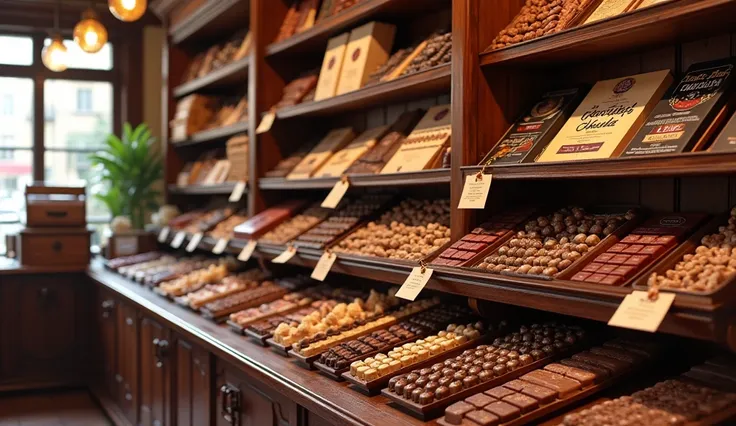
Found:
<svg viewBox="0 0 736 426"><path fill-rule="evenodd" d="M29 78L0 77L0 145L33 146L33 81Z"/></svg>

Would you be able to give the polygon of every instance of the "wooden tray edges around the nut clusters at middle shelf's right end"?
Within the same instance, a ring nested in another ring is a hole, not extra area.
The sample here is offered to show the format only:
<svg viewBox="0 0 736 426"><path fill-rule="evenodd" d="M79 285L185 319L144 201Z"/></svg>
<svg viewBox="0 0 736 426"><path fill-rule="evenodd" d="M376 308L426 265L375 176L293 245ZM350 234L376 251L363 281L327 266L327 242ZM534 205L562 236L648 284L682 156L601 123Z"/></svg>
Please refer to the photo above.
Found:
<svg viewBox="0 0 736 426"><path fill-rule="evenodd" d="M708 235L712 234L714 232L718 232L718 227L723 226L725 224L728 224L728 218L729 214L721 214L716 217L714 217L710 222L708 222L706 225L704 225L698 232L694 233L690 238L688 238L685 242L677 246L674 250L672 250L667 256L664 258L661 258L661 260L658 263L655 263L653 267L648 268L646 273L640 274L636 281L633 282L633 287L636 290L643 290L647 291L649 290L649 286L647 285L647 280L649 279L649 276L653 273L658 274L664 274L668 270L672 269L679 263L683 256L686 254L692 254L695 252L695 249L698 248L700 245L700 240ZM688 290L679 290L679 289L669 289L669 288L660 288L660 291L666 291L671 293L676 293L678 295L688 295L695 298L700 299L702 302L709 304L709 305L717 305L720 303L725 303L727 301L733 300L734 296L736 296L736 286L734 286L734 282L736 281L736 276L732 277L726 282L724 282L720 287L713 291L709 292L695 292L695 291L688 291Z"/></svg>

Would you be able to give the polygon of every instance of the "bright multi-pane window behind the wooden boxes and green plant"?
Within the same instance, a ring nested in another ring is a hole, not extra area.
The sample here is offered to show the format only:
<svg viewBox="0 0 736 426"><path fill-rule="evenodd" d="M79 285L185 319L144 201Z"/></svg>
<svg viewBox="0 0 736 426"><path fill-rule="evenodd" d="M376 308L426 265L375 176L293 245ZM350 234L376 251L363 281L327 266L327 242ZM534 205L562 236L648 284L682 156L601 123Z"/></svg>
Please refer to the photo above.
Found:
<svg viewBox="0 0 736 426"><path fill-rule="evenodd" d="M5 235L22 226L25 186L34 181L87 185L87 222L97 231L93 244L99 244L110 221L104 204L91 196L88 156L113 132L112 46L87 54L67 40L73 71L49 73L33 62L35 49L44 42L45 34L0 34L0 64L16 66L4 68L0 77L0 254L5 252ZM71 74L73 79L65 79ZM41 99L34 97L36 84L43 84ZM34 117L35 111L44 116ZM35 120L43 123L42 130L33 125ZM40 154L34 156L34 151Z"/></svg>

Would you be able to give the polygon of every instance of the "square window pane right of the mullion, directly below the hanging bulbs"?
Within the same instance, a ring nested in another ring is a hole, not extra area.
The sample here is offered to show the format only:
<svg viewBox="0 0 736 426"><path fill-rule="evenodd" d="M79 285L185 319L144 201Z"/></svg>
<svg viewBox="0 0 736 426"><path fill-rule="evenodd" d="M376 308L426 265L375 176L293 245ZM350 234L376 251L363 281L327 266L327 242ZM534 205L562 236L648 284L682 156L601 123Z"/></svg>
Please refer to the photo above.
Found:
<svg viewBox="0 0 736 426"><path fill-rule="evenodd" d="M46 148L95 149L105 142L112 132L112 84L47 80L44 91Z"/></svg>

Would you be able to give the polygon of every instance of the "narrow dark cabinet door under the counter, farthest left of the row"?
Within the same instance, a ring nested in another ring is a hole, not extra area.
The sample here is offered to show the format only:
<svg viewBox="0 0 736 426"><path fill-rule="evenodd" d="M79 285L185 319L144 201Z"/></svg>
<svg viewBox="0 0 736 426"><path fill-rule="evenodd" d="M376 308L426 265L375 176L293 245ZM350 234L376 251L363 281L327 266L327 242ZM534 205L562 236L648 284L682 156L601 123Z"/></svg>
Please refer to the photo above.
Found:
<svg viewBox="0 0 736 426"><path fill-rule="evenodd" d="M110 292L102 290L97 293L97 355L100 360L99 372L102 376L102 385L113 400L118 399L118 384L115 379L117 373L117 320L115 314L115 299Z"/></svg>

